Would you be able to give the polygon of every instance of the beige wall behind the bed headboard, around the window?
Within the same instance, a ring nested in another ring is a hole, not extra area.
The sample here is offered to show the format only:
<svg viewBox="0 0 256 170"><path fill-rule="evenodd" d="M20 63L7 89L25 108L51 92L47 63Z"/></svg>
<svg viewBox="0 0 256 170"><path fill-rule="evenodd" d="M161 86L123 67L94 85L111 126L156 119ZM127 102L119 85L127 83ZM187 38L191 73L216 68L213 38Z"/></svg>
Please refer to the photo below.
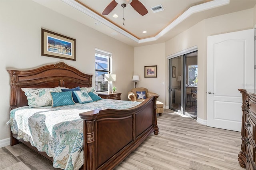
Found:
<svg viewBox="0 0 256 170"><path fill-rule="evenodd" d="M52 18L52 19L51 19ZM76 61L41 56L41 28L76 39ZM114 86L122 100L133 88L134 47L97 32L31 0L0 1L0 141L10 137L9 120L10 78L7 67L34 68L39 65L65 62L84 73L95 73L95 48L112 52ZM163 49L164 51L164 49ZM125 64L123 64L125 63ZM161 70L161 69L160 69ZM93 82L95 77L93 78ZM93 83L95 86L95 83Z"/></svg>

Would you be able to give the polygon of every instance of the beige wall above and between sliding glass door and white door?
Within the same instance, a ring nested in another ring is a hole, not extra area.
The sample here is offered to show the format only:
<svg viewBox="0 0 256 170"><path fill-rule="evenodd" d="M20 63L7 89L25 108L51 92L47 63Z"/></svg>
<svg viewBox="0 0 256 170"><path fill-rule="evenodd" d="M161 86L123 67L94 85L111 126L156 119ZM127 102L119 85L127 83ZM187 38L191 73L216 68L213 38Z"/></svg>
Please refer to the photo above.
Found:
<svg viewBox="0 0 256 170"><path fill-rule="evenodd" d="M166 56L198 46L198 118L207 119L207 37L251 29L254 23L254 9L243 10L203 20L166 42Z"/></svg>

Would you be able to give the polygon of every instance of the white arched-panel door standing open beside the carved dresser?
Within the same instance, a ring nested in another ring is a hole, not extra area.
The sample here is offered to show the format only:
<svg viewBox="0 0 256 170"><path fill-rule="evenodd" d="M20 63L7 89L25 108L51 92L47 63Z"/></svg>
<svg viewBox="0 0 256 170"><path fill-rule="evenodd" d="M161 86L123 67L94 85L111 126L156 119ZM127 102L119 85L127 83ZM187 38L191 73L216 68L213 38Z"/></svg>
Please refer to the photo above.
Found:
<svg viewBox="0 0 256 170"><path fill-rule="evenodd" d="M242 95L254 88L254 29L207 40L207 126L241 131Z"/></svg>

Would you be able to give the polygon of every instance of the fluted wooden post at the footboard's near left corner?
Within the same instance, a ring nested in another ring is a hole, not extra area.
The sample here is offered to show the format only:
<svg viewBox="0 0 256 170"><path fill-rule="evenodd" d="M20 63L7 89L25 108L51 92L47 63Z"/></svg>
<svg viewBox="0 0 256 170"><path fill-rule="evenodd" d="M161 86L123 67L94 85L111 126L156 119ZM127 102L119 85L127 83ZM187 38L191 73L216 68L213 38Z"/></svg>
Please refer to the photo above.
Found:
<svg viewBox="0 0 256 170"><path fill-rule="evenodd" d="M99 109L101 110L101 109ZM96 169L96 150L95 150L95 119L99 110L89 111L85 114L80 113L81 119L84 120L84 170Z"/></svg>

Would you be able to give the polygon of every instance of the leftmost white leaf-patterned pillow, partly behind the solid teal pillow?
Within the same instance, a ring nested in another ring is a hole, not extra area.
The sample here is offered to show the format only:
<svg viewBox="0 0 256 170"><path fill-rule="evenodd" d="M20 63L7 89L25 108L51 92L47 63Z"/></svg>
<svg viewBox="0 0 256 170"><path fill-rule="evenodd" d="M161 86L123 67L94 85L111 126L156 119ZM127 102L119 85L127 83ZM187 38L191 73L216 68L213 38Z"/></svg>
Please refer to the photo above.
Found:
<svg viewBox="0 0 256 170"><path fill-rule="evenodd" d="M55 88L22 88L28 99L29 108L52 105L50 92L62 92L60 87Z"/></svg>

